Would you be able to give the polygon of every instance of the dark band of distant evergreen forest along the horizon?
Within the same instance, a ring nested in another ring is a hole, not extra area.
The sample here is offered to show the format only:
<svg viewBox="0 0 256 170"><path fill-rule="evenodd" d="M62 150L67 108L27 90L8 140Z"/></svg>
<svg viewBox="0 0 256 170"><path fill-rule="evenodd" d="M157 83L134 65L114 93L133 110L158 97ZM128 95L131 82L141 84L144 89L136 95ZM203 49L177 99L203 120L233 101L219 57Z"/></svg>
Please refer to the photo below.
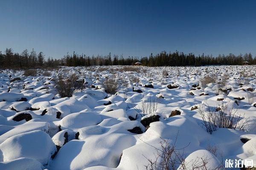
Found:
<svg viewBox="0 0 256 170"><path fill-rule="evenodd" d="M159 54L151 54L148 57L123 57L118 55L106 56L86 56L84 54L67 54L61 59L45 58L43 52L36 53L34 49L27 49L20 54L15 53L12 48L6 48L2 53L0 51L0 68L45 68L55 66L90 66L90 65L134 65L135 62L141 62L145 66L201 66L201 65L242 65L244 61L250 65L256 64L256 57L252 54L234 54L219 55L212 57L209 55L195 56L193 53L184 54L175 51L173 53L162 51Z"/></svg>

